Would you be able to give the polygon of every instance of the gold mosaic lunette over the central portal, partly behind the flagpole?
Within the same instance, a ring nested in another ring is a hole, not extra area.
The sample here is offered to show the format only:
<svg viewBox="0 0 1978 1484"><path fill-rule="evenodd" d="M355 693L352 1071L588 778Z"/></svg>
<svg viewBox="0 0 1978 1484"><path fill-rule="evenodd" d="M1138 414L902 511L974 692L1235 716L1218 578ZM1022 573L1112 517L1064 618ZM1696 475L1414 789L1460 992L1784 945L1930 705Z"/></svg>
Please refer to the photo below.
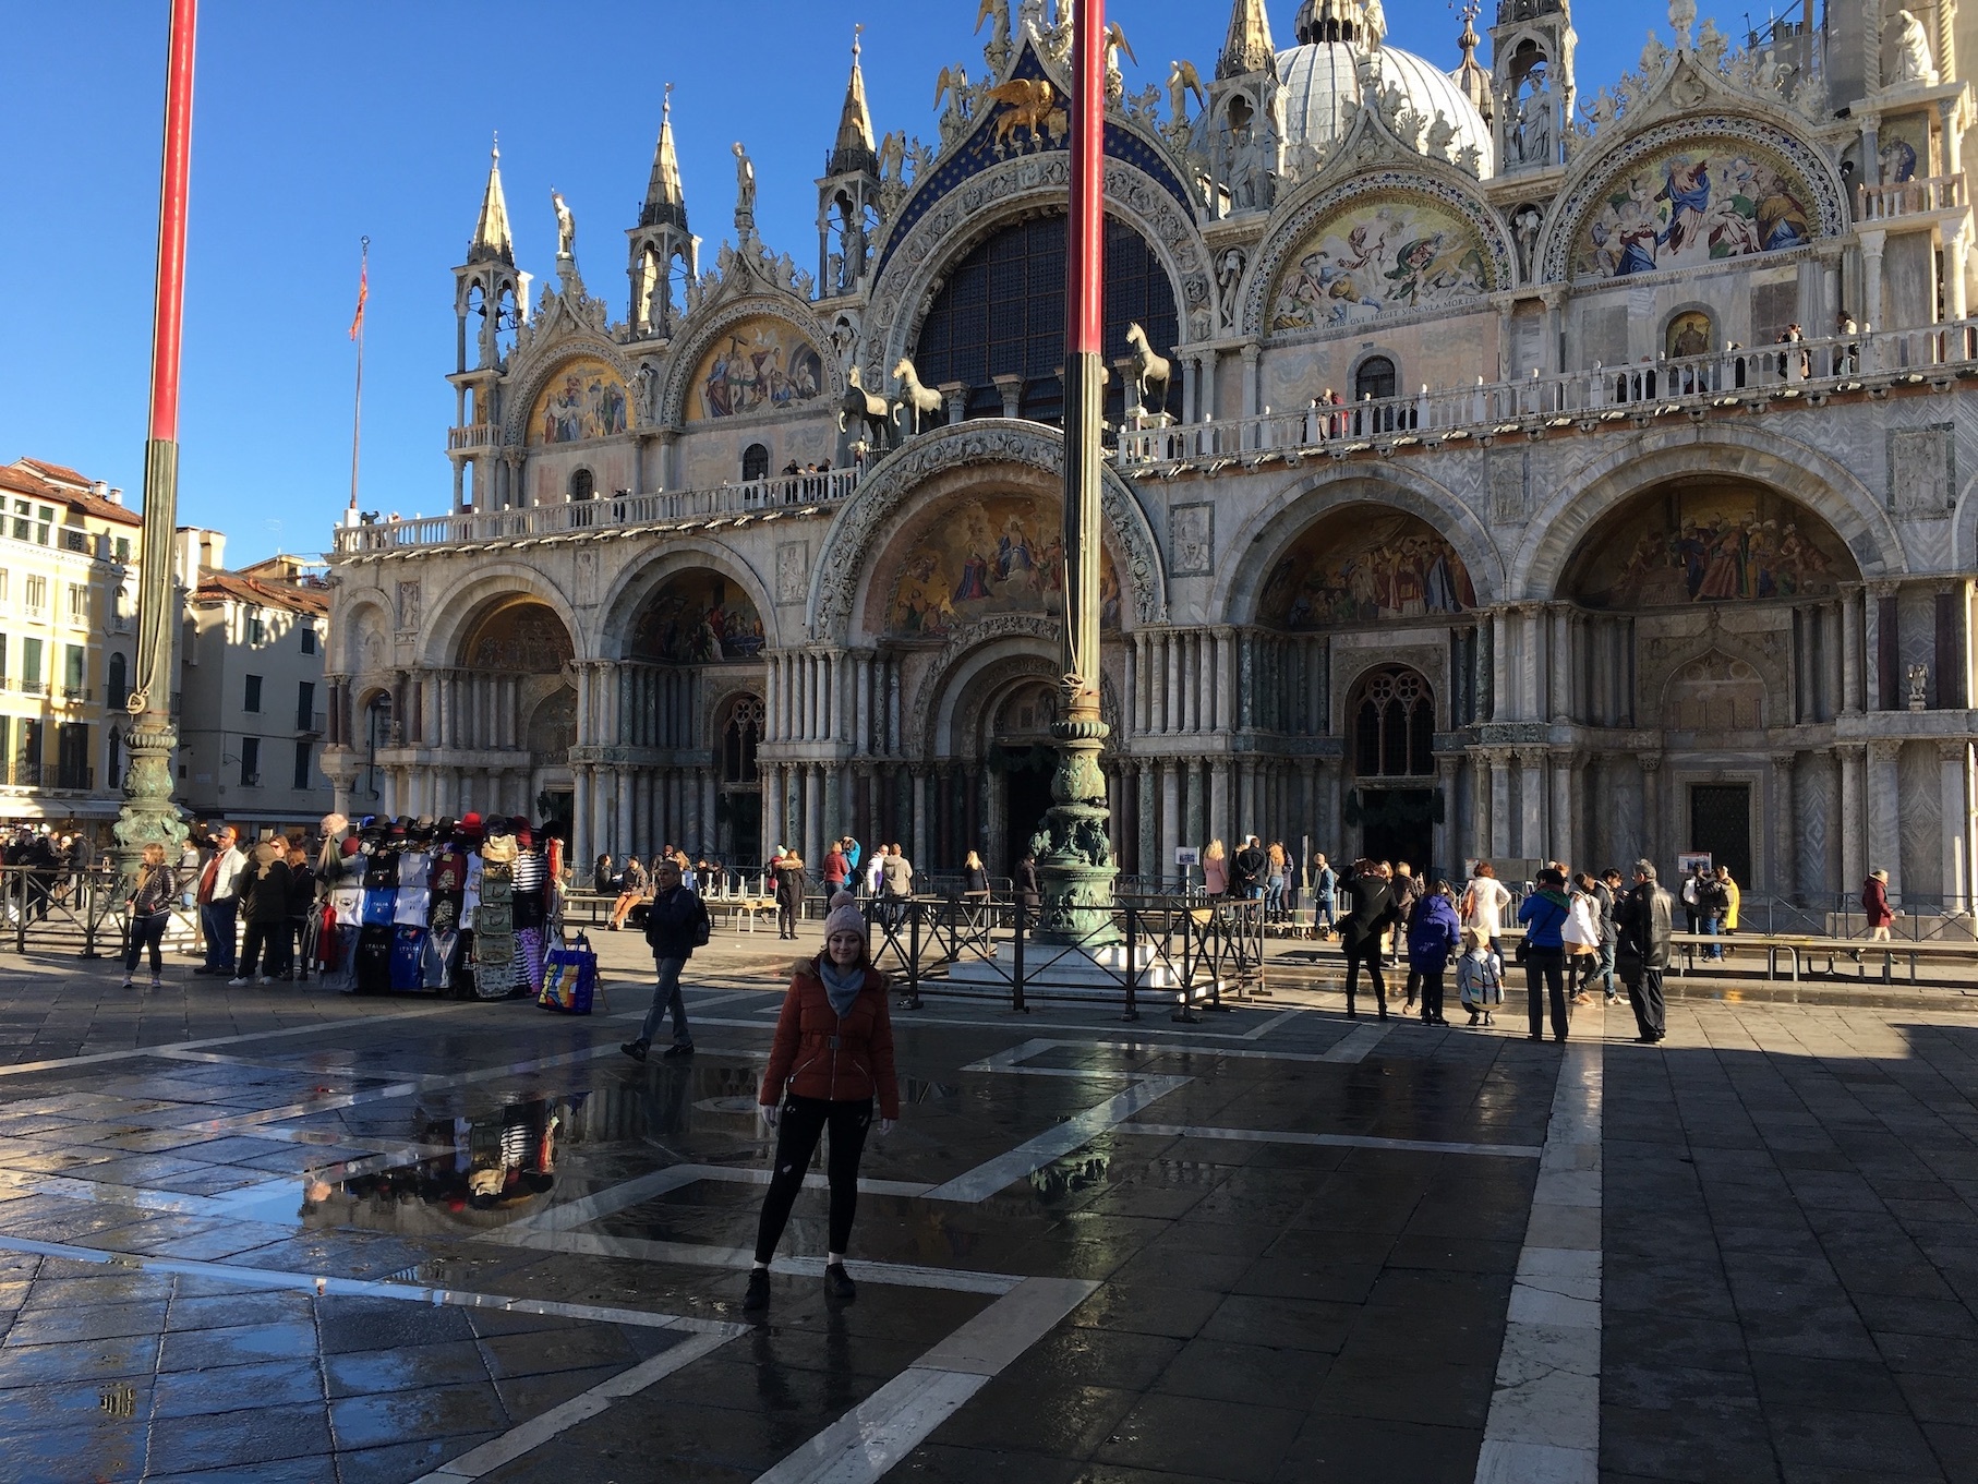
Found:
<svg viewBox="0 0 1978 1484"><path fill-rule="evenodd" d="M940 639L1003 615L1064 607L1062 510L1034 493L965 495L928 510L894 540L878 615L888 639ZM1100 556L1100 627L1120 629L1120 574Z"/></svg>

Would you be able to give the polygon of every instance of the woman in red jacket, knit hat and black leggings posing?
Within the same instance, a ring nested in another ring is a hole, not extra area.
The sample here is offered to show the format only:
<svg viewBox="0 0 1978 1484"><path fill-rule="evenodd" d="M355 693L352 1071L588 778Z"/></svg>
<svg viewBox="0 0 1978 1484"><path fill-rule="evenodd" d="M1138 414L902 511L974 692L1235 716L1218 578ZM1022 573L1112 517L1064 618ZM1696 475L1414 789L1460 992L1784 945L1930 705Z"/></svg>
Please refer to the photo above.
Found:
<svg viewBox="0 0 1978 1484"><path fill-rule="evenodd" d="M769 1306L769 1258L783 1237L789 1209L803 1189L803 1171L817 1154L817 1140L831 1128L831 1245L825 1284L837 1298L856 1286L845 1274L845 1249L858 1209L858 1156L872 1126L878 1098L878 1132L892 1132L900 1116L900 1084L892 1070L892 1017L886 1009L886 975L872 968L866 924L849 892L831 898L825 918L825 952L795 966L775 1045L762 1074L760 1112L775 1138L775 1171L756 1229L756 1266L748 1274L744 1310Z"/></svg>

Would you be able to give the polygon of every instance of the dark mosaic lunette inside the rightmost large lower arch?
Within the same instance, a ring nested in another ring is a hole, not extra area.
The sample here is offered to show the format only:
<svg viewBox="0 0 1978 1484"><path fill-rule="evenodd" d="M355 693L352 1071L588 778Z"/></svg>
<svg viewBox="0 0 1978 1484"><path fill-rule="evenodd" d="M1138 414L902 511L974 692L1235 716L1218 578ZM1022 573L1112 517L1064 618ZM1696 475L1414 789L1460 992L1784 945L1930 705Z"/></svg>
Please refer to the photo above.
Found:
<svg viewBox="0 0 1978 1484"><path fill-rule="evenodd" d="M1636 495L1594 524L1561 590L1588 607L1786 602L1859 582L1834 528L1749 479L1693 475Z"/></svg>

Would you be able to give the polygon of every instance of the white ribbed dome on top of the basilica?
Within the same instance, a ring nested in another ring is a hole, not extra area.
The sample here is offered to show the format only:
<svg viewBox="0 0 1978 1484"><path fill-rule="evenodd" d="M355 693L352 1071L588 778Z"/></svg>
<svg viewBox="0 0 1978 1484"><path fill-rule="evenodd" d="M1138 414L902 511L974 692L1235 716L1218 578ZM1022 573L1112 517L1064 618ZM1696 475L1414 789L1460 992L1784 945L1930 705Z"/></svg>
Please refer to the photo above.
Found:
<svg viewBox="0 0 1978 1484"><path fill-rule="evenodd" d="M1478 152L1478 174L1495 168L1491 131L1450 73L1412 51L1383 44L1385 22L1379 0L1305 0L1298 12L1300 46L1278 53L1278 79L1284 97L1286 144L1309 144L1321 156L1347 137L1361 107L1361 67L1369 67L1379 87L1400 89L1404 109L1422 119L1416 140L1422 146L1428 127L1440 113L1456 131L1450 156L1464 146Z"/></svg>

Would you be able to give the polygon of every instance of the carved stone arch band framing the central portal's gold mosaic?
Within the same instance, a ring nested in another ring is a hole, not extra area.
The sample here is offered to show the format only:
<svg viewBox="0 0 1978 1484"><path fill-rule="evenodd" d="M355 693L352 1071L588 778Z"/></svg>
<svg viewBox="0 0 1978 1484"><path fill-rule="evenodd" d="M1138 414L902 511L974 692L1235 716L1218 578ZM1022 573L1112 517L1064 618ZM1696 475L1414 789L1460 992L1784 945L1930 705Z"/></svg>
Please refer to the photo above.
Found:
<svg viewBox="0 0 1978 1484"><path fill-rule="evenodd" d="M949 469L989 463L1023 463L1062 479L1064 439L1036 423L985 417L926 433L876 463L825 536L825 550L811 574L811 635L849 641L853 598L870 560L870 548L924 481ZM1120 580L1131 594L1135 619L1165 621L1167 584L1159 546L1139 501L1110 467L1100 483L1100 510L1122 548Z"/></svg>

